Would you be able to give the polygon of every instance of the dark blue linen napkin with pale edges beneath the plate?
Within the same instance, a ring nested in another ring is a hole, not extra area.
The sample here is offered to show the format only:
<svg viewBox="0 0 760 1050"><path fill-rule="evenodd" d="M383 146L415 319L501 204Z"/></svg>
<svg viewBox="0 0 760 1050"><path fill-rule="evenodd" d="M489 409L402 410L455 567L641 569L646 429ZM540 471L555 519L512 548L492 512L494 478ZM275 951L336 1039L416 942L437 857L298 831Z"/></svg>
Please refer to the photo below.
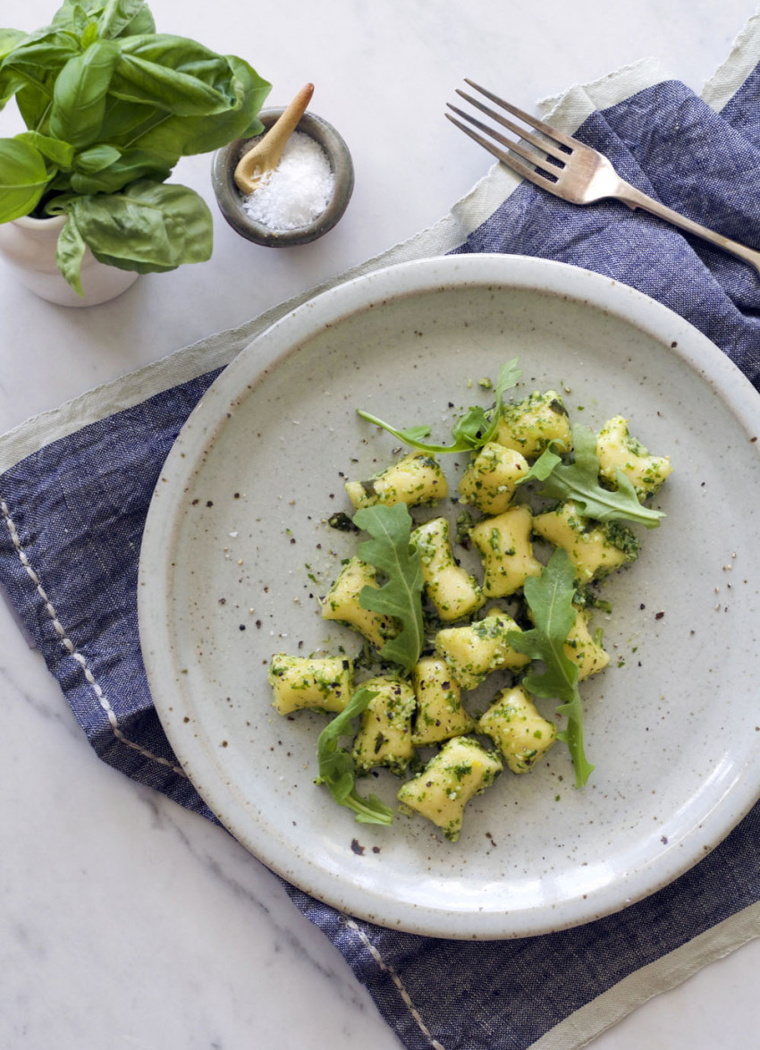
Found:
<svg viewBox="0 0 760 1050"><path fill-rule="evenodd" d="M760 247L758 43L760 16L701 98L648 61L547 108L641 189ZM688 318L760 385L758 276L643 213L615 203L573 208L497 166L431 230L344 276L446 252L539 255L607 274ZM99 756L211 819L177 768L148 690L135 604L140 543L162 463L193 405L295 304L0 439L0 581L25 628ZM288 890L409 1050L567 1050L760 933L759 835L760 805L649 899L574 929L506 942L399 933Z"/></svg>

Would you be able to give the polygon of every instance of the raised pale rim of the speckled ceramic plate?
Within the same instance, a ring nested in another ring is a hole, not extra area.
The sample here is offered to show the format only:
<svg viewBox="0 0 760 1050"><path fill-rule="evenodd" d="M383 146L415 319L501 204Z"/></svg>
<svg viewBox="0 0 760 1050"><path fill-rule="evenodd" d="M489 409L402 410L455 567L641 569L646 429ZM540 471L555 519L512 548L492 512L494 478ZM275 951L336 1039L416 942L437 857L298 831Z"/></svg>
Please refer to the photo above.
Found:
<svg viewBox="0 0 760 1050"><path fill-rule="evenodd" d="M208 442L213 440L214 430L224 425L224 417L229 407L239 398L240 385L242 383L245 387L246 378L249 382L258 381L274 361L289 353L305 336L321 331L326 324L336 324L341 318L352 316L359 310L366 310L373 301L384 302L424 291L484 284L534 290L588 303L628 321L663 344L670 343L668 348L670 352L680 357L699 374L702 381L706 382L730 406L732 414L744 428L748 430L753 428L752 402L757 401L758 392L748 379L703 333L645 293L594 271L550 259L499 254L446 255L394 264L353 277L315 294L274 321L252 339L209 386L177 435L162 467L161 477L174 471L174 484L178 484L181 490L183 478L191 477L195 469L195 460L191 461L184 457L183 453L189 430L197 429L199 425L202 436L206 439L203 447L208 447ZM197 438L195 443L197 444ZM156 596L159 573L154 569L147 570L146 565L151 559L155 561L157 552L165 546L168 533L176 526L180 509L175 505L173 511L170 508L167 514L160 496L161 489L166 492L166 485L163 485L160 479L146 519L138 581L141 648L156 714L190 782L198 790L228 831L272 870L323 903L342 911L349 910L357 918L378 925L424 936L467 940L540 936L614 914L669 885L694 866L710 848L722 841L757 800L758 778L755 778L755 786L751 790L747 786L747 771L743 771L743 792L739 791L737 794L736 786L732 789L731 797L735 805L731 810L730 820L726 822L724 819L725 804L721 800L721 804L713 808L700 827L690 833L690 848L684 847L680 852L664 855L668 856L669 862L659 865L662 874L657 878L648 879L646 873L639 872L637 878L629 877L622 883L627 887L622 899L619 892L612 892L608 886L593 895L593 899L586 901L584 905L579 905L577 901L573 902L574 908L566 909L573 914L566 916L556 914L557 909L562 910L557 905L543 921L536 921L535 912L541 910L536 908L526 909L515 921L514 916L507 911L449 912L409 902L403 904L394 902L396 910L393 919L383 919L378 917L372 907L357 899L356 895L352 898L351 892L346 894L345 887L342 892L334 891L330 876L325 877L326 885L322 885L316 877L319 873L308 863L305 872L300 877L297 872L292 870L283 874L284 865L276 857L273 858L271 853L267 854L267 850L261 848L260 842L252 841L251 835L239 826L235 814L230 816L229 808L227 816L224 812L218 812L226 808L218 804L218 785L217 791L209 789L206 784L198 786L202 776L194 769L192 759L187 756L185 737L183 736L182 741L178 739L178 726L175 726L171 715L171 695L167 699L163 692L163 689L166 689L166 680L162 676L161 659L156 658L155 651L145 644L146 636L154 635L156 628L161 627L162 609L161 601ZM164 591L164 598L166 597L167 592ZM169 604L166 604L167 611ZM168 631L168 620L166 624ZM160 684L162 689L157 688ZM752 763L752 769L760 773L760 751ZM231 793L228 793L227 799L231 799ZM614 883L615 886L619 884L620 880ZM366 896L366 891L364 895ZM459 921L452 921L456 916L460 916ZM498 922L498 918L502 921Z"/></svg>

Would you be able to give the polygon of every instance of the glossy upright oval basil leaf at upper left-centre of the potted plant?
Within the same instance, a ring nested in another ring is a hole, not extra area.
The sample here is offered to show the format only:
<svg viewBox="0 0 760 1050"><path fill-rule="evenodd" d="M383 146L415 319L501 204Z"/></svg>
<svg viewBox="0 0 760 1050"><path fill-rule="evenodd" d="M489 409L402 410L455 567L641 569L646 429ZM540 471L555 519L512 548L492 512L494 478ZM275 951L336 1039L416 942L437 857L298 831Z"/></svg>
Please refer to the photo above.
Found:
<svg viewBox="0 0 760 1050"><path fill-rule="evenodd" d="M94 142L106 111L106 92L119 61L119 44L99 40L69 59L52 96L50 133L73 146Z"/></svg>

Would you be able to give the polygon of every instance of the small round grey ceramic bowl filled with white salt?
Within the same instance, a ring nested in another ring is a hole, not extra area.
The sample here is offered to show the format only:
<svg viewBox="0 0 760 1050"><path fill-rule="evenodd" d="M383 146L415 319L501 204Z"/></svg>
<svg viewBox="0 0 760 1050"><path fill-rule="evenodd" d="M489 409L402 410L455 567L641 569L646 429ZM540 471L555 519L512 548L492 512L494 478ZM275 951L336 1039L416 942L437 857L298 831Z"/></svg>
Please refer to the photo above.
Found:
<svg viewBox="0 0 760 1050"><path fill-rule="evenodd" d="M269 130L283 109L259 119ZM314 113L303 113L277 167L252 193L235 183L235 169L256 140L237 139L214 154L212 182L221 214L241 236L271 248L316 240L342 216L354 189L354 165L343 139Z"/></svg>

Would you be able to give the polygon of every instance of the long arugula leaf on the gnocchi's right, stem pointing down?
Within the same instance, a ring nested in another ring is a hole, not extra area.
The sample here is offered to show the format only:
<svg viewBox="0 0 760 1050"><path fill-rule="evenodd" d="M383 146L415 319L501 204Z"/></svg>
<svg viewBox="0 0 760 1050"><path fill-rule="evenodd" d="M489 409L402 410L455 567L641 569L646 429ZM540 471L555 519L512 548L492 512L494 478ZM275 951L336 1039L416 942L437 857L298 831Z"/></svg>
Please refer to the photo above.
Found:
<svg viewBox="0 0 760 1050"><path fill-rule="evenodd" d="M533 620L528 631L510 631L507 638L518 652L544 663L544 671L523 678L523 685L535 696L556 697L562 702L557 714L567 718L557 733L570 751L575 770L575 786L583 788L594 766L584 750L584 713L578 693L577 665L565 652L565 643L575 623L575 570L567 551L558 548L540 576L525 582L525 598Z"/></svg>

